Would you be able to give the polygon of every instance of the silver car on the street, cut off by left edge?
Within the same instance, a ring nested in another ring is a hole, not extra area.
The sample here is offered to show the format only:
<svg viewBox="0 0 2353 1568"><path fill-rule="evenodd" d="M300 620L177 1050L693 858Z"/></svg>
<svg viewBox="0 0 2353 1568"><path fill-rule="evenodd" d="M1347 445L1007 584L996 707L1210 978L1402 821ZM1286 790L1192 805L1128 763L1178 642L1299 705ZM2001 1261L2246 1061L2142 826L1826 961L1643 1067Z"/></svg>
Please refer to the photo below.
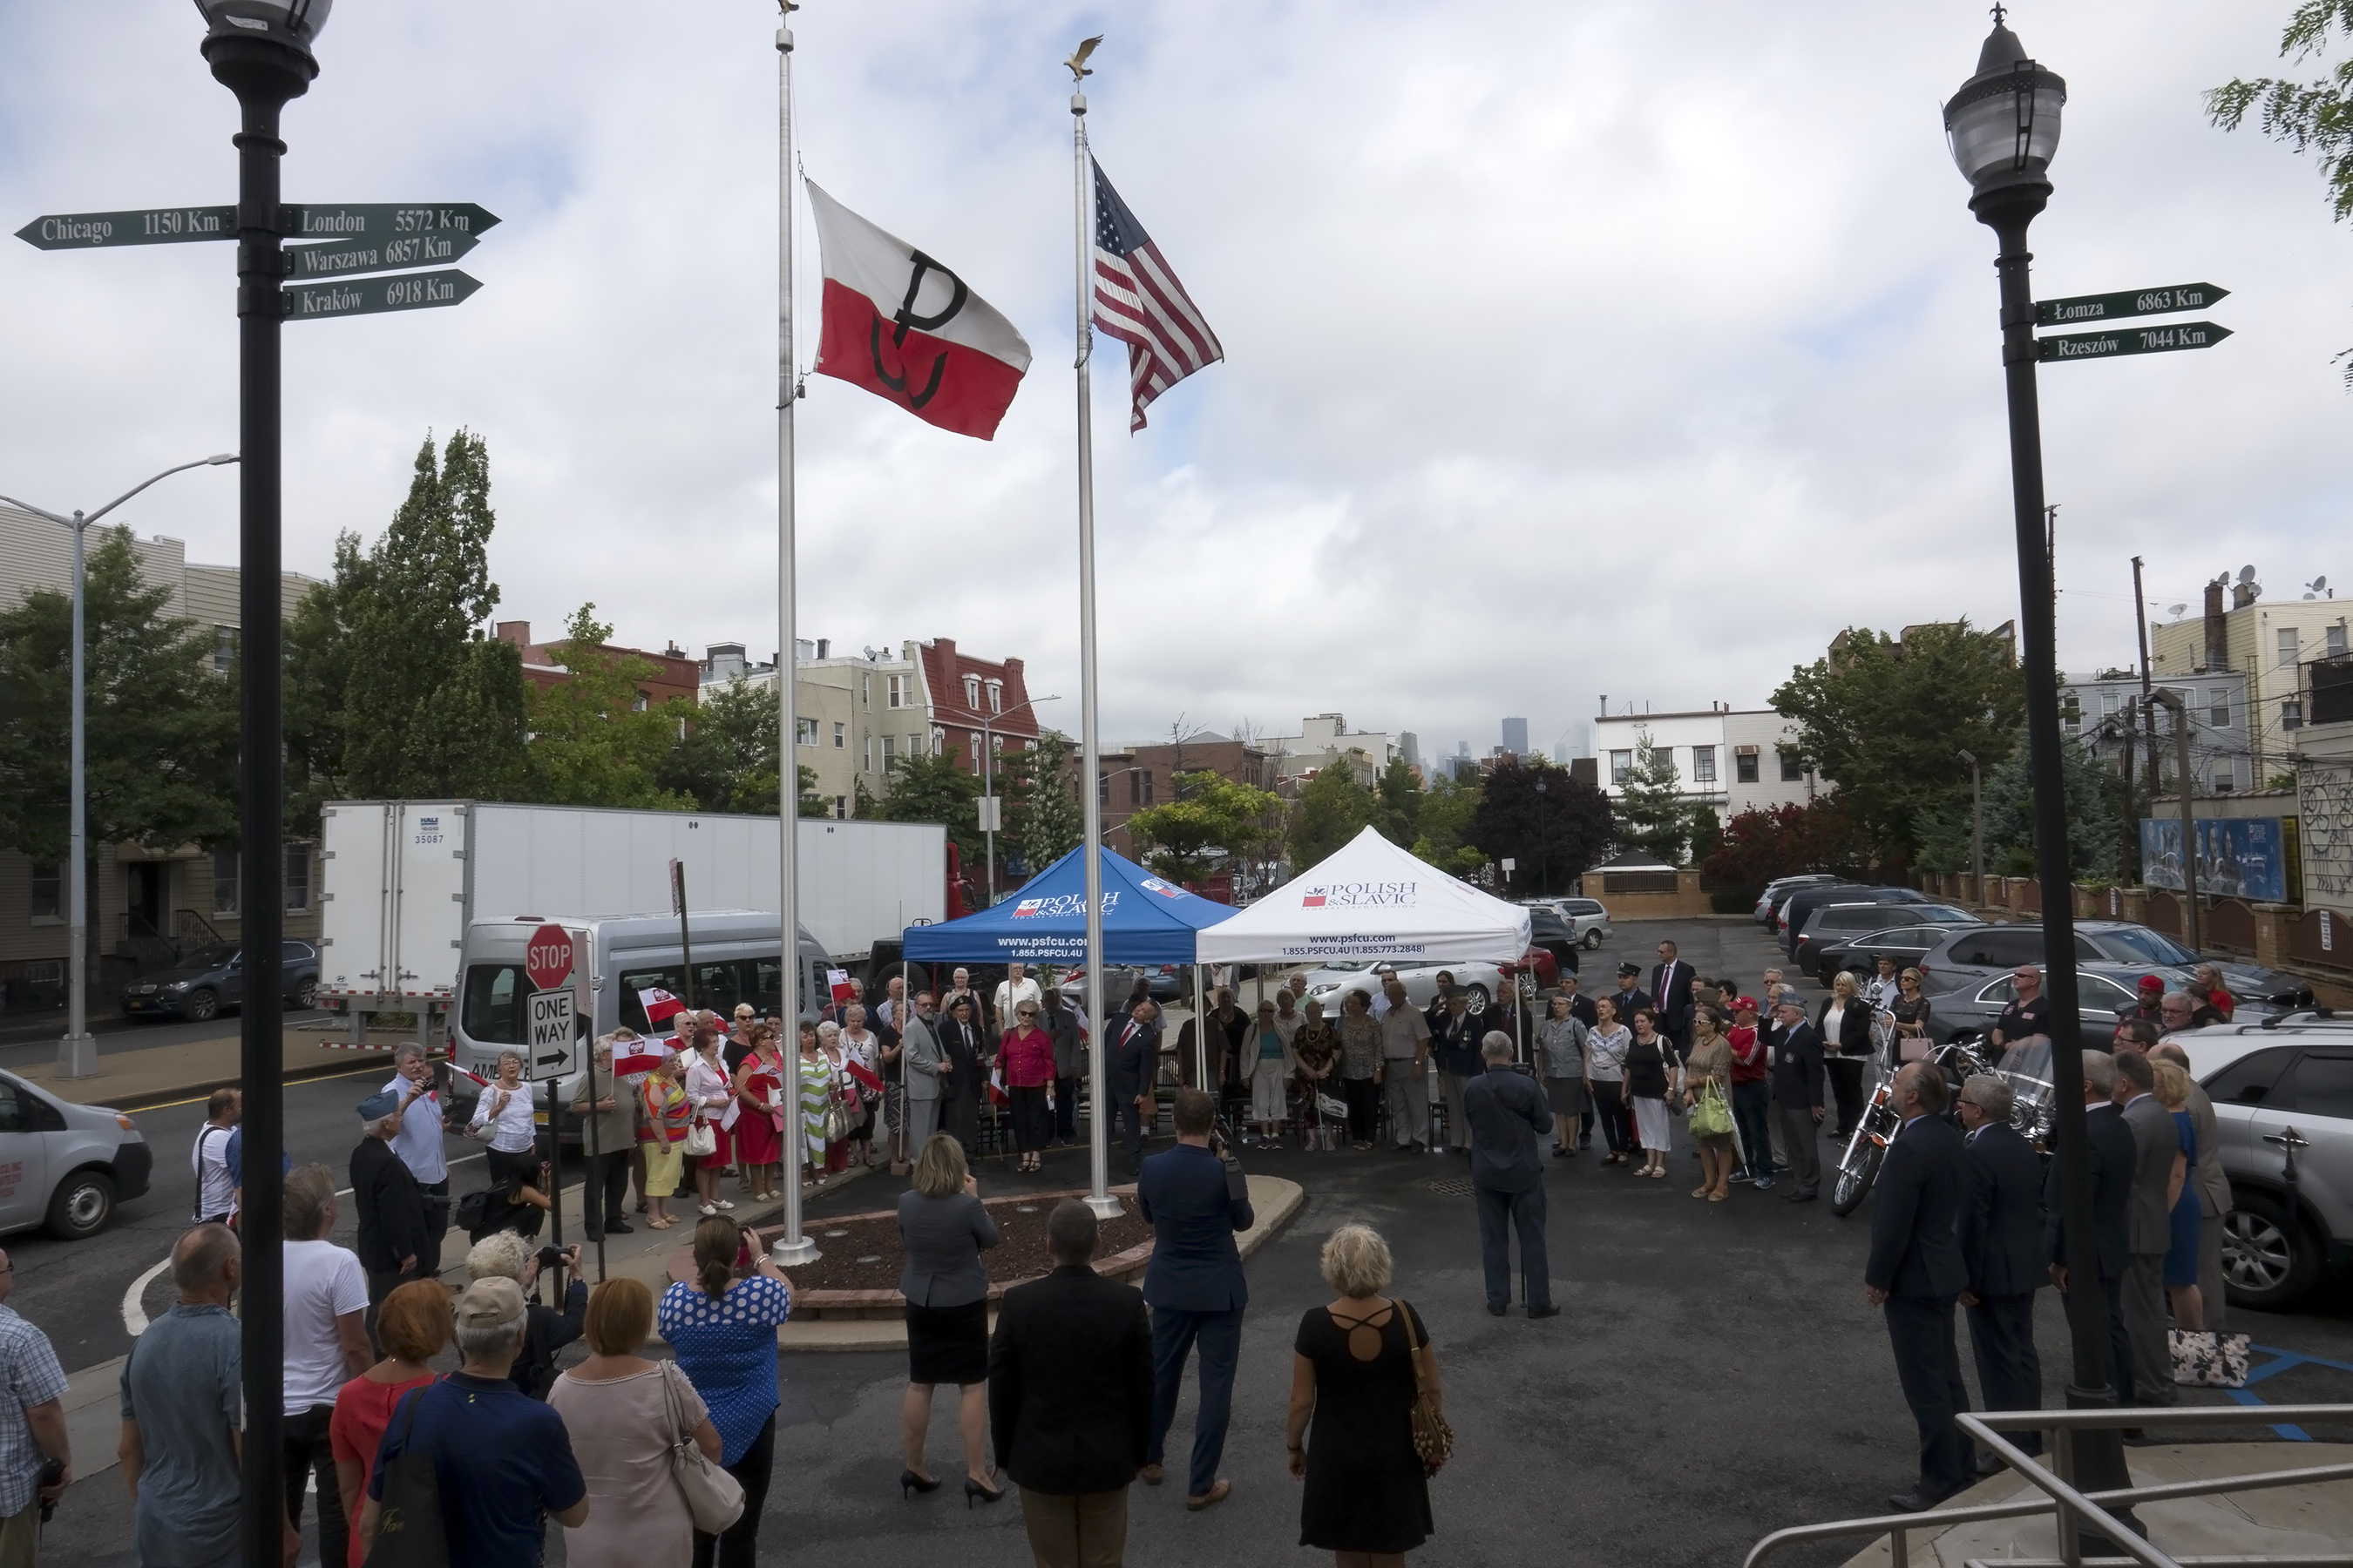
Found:
<svg viewBox="0 0 2353 1568"><path fill-rule="evenodd" d="M0 1072L0 1232L80 1241L146 1192L155 1154L118 1110L59 1100Z"/></svg>

